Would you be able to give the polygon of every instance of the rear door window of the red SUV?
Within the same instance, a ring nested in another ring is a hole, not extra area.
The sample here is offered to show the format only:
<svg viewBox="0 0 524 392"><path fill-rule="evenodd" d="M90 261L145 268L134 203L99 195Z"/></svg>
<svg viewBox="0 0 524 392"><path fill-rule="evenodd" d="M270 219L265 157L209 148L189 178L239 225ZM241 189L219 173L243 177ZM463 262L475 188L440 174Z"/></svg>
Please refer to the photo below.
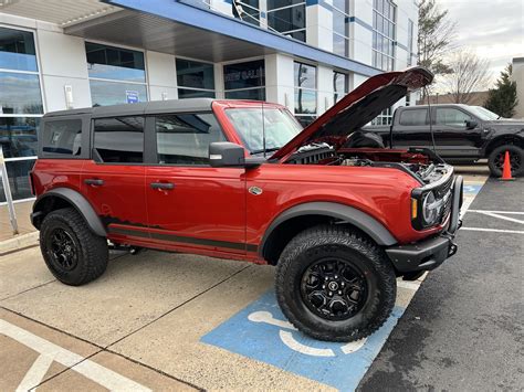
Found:
<svg viewBox="0 0 524 392"><path fill-rule="evenodd" d="M95 119L94 134L94 148L103 162L144 162L144 117Z"/></svg>

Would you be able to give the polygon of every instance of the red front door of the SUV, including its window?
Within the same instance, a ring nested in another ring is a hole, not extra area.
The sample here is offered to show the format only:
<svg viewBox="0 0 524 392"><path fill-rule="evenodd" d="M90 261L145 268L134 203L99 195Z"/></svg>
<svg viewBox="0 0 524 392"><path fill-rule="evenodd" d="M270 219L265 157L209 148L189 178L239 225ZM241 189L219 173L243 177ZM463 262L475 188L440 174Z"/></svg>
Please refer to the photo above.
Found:
<svg viewBox="0 0 524 392"><path fill-rule="evenodd" d="M158 115L155 134L157 161L146 169L151 241L195 253L245 253L244 170L209 166L209 144L226 141L214 115Z"/></svg>

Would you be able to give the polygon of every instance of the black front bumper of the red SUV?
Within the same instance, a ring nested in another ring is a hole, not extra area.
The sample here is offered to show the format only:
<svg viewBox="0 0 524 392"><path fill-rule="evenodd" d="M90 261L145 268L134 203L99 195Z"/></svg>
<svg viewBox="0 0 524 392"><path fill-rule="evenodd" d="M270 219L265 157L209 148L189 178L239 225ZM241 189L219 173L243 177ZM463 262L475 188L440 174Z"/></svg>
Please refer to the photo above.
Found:
<svg viewBox="0 0 524 392"><path fill-rule="evenodd" d="M453 199L449 223L443 232L438 236L415 244L397 245L386 250L386 254L399 273L434 269L444 259L457 253L457 244L453 243L453 237L461 225L459 216L463 197L462 187L462 177L458 176L453 181Z"/></svg>

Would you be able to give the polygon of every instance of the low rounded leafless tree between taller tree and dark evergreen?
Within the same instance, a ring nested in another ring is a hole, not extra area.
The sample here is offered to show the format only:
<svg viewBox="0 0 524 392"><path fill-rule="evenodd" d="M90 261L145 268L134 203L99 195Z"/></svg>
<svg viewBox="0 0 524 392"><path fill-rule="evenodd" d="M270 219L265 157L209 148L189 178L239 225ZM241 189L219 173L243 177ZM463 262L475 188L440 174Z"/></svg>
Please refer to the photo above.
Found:
<svg viewBox="0 0 524 392"><path fill-rule="evenodd" d="M458 50L448 61L451 73L442 84L455 104L468 104L472 93L488 87L490 63L469 50Z"/></svg>

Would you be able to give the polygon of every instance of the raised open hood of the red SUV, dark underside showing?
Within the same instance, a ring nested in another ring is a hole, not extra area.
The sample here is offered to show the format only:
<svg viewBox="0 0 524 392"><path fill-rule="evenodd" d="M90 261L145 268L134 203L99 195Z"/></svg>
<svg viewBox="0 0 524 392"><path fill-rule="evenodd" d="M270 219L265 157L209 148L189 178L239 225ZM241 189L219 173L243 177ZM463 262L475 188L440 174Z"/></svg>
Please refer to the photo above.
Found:
<svg viewBox="0 0 524 392"><path fill-rule="evenodd" d="M433 74L420 66L373 76L305 127L270 159L282 159L312 142L326 141L339 147L349 134L364 127L408 92L432 81Z"/></svg>

